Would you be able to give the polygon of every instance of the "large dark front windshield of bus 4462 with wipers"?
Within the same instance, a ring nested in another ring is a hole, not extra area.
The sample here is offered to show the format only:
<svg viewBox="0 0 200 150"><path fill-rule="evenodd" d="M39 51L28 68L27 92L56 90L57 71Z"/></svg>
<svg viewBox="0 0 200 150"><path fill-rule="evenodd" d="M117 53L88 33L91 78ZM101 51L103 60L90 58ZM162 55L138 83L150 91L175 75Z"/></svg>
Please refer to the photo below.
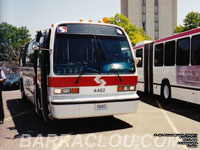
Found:
<svg viewBox="0 0 200 150"><path fill-rule="evenodd" d="M129 74L135 72L125 36L56 34L54 73Z"/></svg>

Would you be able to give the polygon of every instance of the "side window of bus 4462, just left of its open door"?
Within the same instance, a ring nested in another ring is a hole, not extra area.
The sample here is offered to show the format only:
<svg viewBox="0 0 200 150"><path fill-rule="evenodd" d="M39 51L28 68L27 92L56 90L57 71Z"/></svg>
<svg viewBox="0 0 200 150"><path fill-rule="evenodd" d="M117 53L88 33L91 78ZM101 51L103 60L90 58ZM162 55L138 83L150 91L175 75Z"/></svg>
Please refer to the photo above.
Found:
<svg viewBox="0 0 200 150"><path fill-rule="evenodd" d="M28 45L27 51L26 51L26 59L25 64L28 67L32 67L34 63L34 50L33 50L33 41L31 41Z"/></svg>

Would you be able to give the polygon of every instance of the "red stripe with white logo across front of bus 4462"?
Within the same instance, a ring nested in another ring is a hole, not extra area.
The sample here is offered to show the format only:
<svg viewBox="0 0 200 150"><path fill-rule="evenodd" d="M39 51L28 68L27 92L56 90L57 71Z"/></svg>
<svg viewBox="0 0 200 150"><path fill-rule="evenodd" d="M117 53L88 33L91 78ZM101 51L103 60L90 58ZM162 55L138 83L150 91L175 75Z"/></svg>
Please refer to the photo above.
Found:
<svg viewBox="0 0 200 150"><path fill-rule="evenodd" d="M112 85L136 85L137 76L121 76L122 82L117 76L102 76L97 77L48 77L48 87L81 87L81 86L112 86Z"/></svg>

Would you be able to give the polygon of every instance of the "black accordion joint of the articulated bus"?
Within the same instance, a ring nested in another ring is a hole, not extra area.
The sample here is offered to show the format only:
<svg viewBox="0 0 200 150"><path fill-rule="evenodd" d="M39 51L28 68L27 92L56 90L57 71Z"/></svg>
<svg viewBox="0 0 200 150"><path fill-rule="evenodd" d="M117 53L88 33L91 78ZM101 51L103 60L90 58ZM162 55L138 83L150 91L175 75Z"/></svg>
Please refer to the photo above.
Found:
<svg viewBox="0 0 200 150"><path fill-rule="evenodd" d="M153 94L153 42L144 46L144 93Z"/></svg>

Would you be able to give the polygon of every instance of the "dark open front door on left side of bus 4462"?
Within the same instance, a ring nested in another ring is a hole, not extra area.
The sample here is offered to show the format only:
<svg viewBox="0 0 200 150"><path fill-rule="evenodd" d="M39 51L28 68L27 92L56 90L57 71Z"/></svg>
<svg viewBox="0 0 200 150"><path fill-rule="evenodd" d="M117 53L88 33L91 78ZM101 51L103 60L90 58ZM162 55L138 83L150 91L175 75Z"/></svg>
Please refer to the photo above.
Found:
<svg viewBox="0 0 200 150"><path fill-rule="evenodd" d="M51 30L44 33L37 33L36 42L39 43L40 50L34 51L34 72L35 72L35 106L36 112L44 120L47 120L48 100L47 100L47 76L49 74L49 42ZM37 45L37 44L36 44ZM35 48L37 47L35 45Z"/></svg>

